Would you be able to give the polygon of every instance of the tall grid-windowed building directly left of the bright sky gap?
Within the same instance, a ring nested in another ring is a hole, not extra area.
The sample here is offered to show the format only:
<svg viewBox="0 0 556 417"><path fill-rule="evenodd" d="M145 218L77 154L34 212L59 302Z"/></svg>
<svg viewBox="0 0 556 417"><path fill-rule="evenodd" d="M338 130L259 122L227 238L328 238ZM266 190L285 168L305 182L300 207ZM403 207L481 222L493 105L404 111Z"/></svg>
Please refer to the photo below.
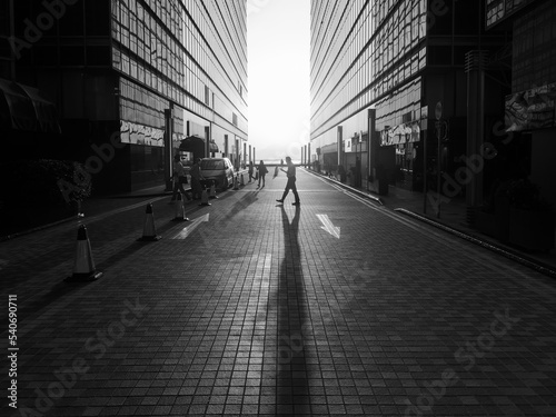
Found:
<svg viewBox="0 0 556 417"><path fill-rule="evenodd" d="M245 0L2 0L0 14L12 152L48 135L107 191L168 181L178 149L247 159ZM54 105L61 135L19 122L40 115L16 90Z"/></svg>

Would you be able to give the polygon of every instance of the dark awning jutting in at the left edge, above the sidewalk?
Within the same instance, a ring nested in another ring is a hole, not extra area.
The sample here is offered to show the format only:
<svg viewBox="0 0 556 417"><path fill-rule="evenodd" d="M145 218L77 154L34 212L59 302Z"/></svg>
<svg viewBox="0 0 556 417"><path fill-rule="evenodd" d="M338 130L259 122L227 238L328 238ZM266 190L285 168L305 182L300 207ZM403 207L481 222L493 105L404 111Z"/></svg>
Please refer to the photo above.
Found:
<svg viewBox="0 0 556 417"><path fill-rule="evenodd" d="M12 129L60 132L56 106L36 88L0 79L0 120Z"/></svg>

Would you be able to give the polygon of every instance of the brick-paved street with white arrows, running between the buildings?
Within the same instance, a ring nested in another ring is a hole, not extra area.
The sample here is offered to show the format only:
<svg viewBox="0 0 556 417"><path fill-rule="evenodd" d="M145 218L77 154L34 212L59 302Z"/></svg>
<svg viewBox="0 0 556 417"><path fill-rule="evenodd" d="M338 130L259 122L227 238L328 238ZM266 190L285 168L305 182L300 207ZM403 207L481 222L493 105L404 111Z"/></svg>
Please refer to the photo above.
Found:
<svg viewBox="0 0 556 417"><path fill-rule="evenodd" d="M554 279L301 169L279 205L285 183L189 222L153 198L158 242L145 203L82 219L93 282L63 282L78 220L0 244L1 415L556 415Z"/></svg>

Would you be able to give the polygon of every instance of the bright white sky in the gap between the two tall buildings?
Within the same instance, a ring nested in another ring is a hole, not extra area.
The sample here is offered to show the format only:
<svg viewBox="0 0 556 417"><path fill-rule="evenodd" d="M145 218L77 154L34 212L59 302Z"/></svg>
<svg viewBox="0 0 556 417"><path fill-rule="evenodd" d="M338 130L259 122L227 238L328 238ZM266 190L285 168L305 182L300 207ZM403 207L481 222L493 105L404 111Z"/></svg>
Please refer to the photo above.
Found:
<svg viewBox="0 0 556 417"><path fill-rule="evenodd" d="M310 0L247 0L248 145L256 161L309 142Z"/></svg>

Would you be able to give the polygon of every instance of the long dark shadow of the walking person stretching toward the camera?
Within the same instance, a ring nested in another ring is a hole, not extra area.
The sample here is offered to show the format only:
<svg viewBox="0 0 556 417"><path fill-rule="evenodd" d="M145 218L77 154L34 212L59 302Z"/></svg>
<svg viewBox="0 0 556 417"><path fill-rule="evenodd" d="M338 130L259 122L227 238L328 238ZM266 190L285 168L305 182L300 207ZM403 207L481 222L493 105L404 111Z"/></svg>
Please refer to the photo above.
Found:
<svg viewBox="0 0 556 417"><path fill-rule="evenodd" d="M284 259L278 277L277 409L278 414L309 414L309 388L302 329L307 320L307 302L299 247L299 216L296 206L291 222L284 206Z"/></svg>

